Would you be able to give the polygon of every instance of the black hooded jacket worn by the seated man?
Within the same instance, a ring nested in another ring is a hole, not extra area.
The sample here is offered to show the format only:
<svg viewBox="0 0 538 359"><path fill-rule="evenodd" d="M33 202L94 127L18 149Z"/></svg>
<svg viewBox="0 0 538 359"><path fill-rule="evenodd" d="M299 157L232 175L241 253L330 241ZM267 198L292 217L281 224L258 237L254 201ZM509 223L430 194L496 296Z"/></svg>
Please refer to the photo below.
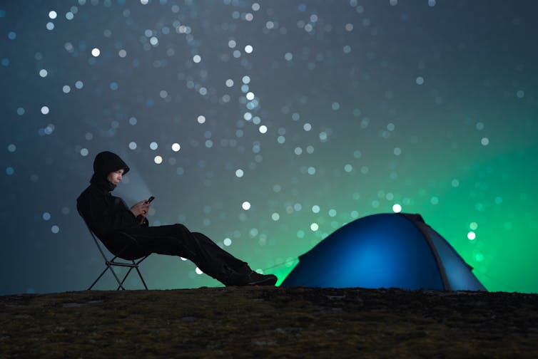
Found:
<svg viewBox="0 0 538 359"><path fill-rule="evenodd" d="M108 151L99 152L93 161L90 185L76 199L78 213L107 247L114 231L141 227L123 199L111 194L116 185L106 179L110 172L122 169L123 175L129 171L118 155ZM148 225L147 220L143 225Z"/></svg>

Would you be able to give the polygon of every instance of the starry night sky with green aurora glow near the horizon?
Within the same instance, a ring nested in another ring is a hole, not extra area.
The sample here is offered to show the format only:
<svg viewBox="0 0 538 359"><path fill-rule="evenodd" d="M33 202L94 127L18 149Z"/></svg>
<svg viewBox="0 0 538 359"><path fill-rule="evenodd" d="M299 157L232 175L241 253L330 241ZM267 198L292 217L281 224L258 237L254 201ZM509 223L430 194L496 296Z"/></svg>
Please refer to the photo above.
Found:
<svg viewBox="0 0 538 359"><path fill-rule="evenodd" d="M103 269L76 212L103 150L131 167L113 194L156 197L151 225L280 281L336 229L401 208L490 291L538 293L537 8L0 1L0 294L78 291ZM221 285L173 256L143 273Z"/></svg>

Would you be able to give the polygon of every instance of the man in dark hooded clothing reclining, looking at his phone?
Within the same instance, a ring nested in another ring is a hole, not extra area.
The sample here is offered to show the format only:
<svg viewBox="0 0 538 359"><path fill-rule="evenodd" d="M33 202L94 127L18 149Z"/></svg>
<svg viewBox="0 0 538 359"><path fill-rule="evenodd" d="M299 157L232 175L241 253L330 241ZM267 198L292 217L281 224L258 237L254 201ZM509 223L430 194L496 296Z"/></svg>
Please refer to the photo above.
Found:
<svg viewBox="0 0 538 359"><path fill-rule="evenodd" d="M191 232L183 224L149 227L147 200L128 208L123 199L111 195L128 171L129 167L115 153L98 153L93 161L90 185L76 201L88 227L113 254L123 259L137 259L151 253L181 256L225 286L275 285L277 277L273 274L256 273L207 236ZM126 241L121 233L132 236L136 244Z"/></svg>

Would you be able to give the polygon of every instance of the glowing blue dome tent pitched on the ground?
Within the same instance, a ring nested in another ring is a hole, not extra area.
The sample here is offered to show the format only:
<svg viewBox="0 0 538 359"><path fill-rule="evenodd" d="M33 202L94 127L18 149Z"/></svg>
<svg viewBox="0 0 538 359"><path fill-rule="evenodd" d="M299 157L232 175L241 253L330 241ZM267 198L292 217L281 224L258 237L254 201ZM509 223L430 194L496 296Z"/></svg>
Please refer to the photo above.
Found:
<svg viewBox="0 0 538 359"><path fill-rule="evenodd" d="M420 214L373 214L299 257L281 286L486 291L455 249Z"/></svg>

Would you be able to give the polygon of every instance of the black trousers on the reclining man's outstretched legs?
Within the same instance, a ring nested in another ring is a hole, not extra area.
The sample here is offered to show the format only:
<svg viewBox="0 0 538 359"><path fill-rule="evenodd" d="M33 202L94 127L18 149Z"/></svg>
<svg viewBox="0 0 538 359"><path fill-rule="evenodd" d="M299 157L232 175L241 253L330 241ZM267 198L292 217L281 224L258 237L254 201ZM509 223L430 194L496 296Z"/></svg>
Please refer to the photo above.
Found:
<svg viewBox="0 0 538 359"><path fill-rule="evenodd" d="M212 276L225 285L233 285L238 276L248 274L250 267L240 261L215 242L198 232L191 232L183 224L170 226L140 227L124 229L124 233L136 239L136 245L122 246L112 250L113 254L125 259L141 258L151 253L181 256L193 261L205 274ZM110 243L118 239L111 236ZM123 242L124 243L124 242ZM121 253L118 253L121 251ZM116 252L116 253L115 253Z"/></svg>

